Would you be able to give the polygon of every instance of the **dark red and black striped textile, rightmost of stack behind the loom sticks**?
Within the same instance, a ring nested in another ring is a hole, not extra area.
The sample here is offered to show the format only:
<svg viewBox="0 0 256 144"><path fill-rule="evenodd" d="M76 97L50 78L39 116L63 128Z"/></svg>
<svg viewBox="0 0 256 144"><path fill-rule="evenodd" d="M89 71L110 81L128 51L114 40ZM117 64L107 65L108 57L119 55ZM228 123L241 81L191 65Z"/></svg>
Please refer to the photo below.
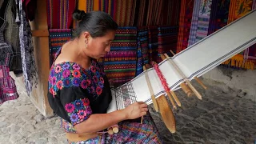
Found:
<svg viewBox="0 0 256 144"><path fill-rule="evenodd" d="M160 26L158 27L158 54L177 50L178 26ZM158 56L157 62L162 62Z"/></svg>

